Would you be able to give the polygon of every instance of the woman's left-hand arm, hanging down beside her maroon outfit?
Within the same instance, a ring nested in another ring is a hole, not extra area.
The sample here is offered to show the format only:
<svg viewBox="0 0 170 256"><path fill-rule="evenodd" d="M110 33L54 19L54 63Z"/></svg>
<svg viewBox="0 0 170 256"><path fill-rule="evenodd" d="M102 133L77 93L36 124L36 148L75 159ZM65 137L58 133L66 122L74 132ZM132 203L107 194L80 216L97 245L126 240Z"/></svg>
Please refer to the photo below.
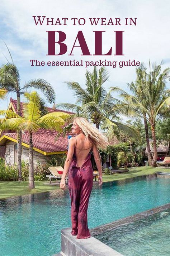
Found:
<svg viewBox="0 0 170 256"><path fill-rule="evenodd" d="M69 139L69 149L68 149L67 158L64 164L64 171L63 171L61 182L60 182L61 188L65 187L65 178L66 178L67 172L69 171L72 156L74 154L75 143L76 143L76 139L74 137Z"/></svg>

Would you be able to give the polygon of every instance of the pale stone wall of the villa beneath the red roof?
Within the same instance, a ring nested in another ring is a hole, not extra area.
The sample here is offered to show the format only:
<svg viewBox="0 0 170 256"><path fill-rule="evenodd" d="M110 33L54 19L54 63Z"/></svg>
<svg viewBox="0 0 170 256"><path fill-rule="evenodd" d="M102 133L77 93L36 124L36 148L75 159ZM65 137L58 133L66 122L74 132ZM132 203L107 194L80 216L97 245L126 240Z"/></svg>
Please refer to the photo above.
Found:
<svg viewBox="0 0 170 256"><path fill-rule="evenodd" d="M15 142L9 141L6 142L6 151L5 151L5 163L8 164L14 164L14 145L16 145ZM49 159L50 156L45 156L37 151L33 150L33 160L34 160L34 166L37 165L37 162L40 162L41 164L46 163L46 159ZM22 146L22 160L28 161L29 160L29 149L27 147Z"/></svg>

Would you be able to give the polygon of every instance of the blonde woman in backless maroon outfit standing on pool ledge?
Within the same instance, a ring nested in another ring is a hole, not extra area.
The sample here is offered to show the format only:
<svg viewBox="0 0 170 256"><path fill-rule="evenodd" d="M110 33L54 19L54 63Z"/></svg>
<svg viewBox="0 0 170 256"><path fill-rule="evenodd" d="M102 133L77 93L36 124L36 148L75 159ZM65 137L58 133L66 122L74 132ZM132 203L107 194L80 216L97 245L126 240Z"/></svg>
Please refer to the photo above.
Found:
<svg viewBox="0 0 170 256"><path fill-rule="evenodd" d="M93 187L93 168L91 151L98 168L99 186L103 183L101 160L98 149L105 149L107 138L85 118L75 118L72 133L77 136L70 138L67 158L60 182L61 189L65 188L65 177L68 172L69 193L71 198L72 235L77 238L89 238L87 210L90 193Z"/></svg>

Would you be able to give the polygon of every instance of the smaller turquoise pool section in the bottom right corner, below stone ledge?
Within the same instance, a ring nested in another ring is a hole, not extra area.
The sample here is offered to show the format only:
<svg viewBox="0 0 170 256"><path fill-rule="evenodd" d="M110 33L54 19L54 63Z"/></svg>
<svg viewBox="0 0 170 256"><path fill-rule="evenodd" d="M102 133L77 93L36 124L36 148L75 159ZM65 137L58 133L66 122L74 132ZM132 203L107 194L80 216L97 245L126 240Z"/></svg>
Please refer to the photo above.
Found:
<svg viewBox="0 0 170 256"><path fill-rule="evenodd" d="M124 256L170 255L170 209L95 235Z"/></svg>

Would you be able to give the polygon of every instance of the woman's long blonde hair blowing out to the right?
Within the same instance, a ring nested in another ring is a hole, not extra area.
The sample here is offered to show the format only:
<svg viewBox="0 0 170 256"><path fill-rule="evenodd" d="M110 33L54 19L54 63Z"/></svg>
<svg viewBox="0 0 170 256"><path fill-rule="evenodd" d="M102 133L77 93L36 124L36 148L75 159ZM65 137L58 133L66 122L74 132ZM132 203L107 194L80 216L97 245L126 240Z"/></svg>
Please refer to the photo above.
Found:
<svg viewBox="0 0 170 256"><path fill-rule="evenodd" d="M90 138L98 149L107 148L109 145L107 137L105 137L103 133L101 133L92 124L90 124L87 119L76 117L74 120L76 124L79 125L86 138Z"/></svg>

